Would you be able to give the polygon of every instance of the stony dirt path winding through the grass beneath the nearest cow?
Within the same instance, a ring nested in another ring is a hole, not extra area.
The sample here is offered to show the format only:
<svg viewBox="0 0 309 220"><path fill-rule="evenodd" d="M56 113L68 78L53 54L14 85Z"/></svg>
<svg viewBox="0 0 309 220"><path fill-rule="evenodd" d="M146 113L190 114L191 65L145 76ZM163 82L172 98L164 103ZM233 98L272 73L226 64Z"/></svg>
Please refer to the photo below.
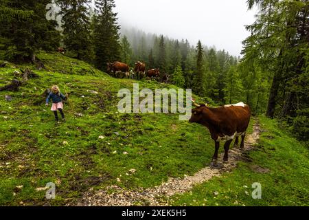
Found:
<svg viewBox="0 0 309 220"><path fill-rule="evenodd" d="M87 192L84 197L76 204L68 204L69 206L168 206L166 197L183 193L190 190L194 185L201 184L212 177L218 177L221 173L229 172L236 167L236 163L240 160L247 159L247 152L250 151L260 137L260 126L258 123L253 126L253 133L247 135L244 142L244 151L239 148L233 148L229 151L229 162L222 162L223 153L218 158L218 167L205 167L193 176L185 176L185 178L170 178L167 182L154 188L141 188L138 191L128 191L119 186L110 186L107 190L99 190L97 192ZM221 160L219 160L221 159ZM108 194L108 190L113 193Z"/></svg>

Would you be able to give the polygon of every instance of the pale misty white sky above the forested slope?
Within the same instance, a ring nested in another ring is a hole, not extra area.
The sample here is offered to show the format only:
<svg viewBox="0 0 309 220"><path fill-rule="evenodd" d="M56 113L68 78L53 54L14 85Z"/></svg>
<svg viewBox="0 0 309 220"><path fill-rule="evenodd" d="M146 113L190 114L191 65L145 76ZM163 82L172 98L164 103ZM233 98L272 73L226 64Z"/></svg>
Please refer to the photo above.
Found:
<svg viewBox="0 0 309 220"><path fill-rule="evenodd" d="M253 23L254 11L246 0L115 0L119 24L146 33L188 39L192 45L225 49L238 56L249 36L244 25Z"/></svg>

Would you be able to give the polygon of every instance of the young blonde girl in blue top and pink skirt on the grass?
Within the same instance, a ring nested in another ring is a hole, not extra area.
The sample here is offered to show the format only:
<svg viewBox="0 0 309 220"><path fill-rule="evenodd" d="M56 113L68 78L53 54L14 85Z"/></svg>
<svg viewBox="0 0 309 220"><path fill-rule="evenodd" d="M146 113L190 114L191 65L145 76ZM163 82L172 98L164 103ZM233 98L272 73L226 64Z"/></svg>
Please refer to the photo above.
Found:
<svg viewBox="0 0 309 220"><path fill-rule="evenodd" d="M62 121L65 121L65 114L63 113L63 104L62 100L65 100L67 97L64 96L57 85L53 85L51 92L47 96L46 99L46 106L48 105L48 102L50 99L52 99L52 108L50 110L54 111L55 120L56 122L59 121L57 110L60 111L60 114L62 116Z"/></svg>

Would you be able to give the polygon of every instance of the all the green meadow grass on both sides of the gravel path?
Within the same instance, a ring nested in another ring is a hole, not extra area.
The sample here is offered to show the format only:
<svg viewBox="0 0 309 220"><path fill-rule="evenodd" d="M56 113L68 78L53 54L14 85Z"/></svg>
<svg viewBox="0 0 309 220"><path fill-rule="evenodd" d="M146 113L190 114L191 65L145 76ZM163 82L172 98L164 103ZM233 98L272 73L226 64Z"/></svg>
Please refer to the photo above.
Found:
<svg viewBox="0 0 309 220"><path fill-rule="evenodd" d="M180 121L178 114L117 113L121 88L132 91L133 83L139 83L139 89L176 87L111 78L57 53L42 52L38 57L47 69L36 71L32 65L12 63L0 69L0 87L10 83L19 68L29 67L40 76L19 91L0 92L0 206L60 206L89 188L111 184L127 189L153 187L168 177L193 175L211 162L214 142L203 126ZM67 122L59 125L43 96L54 84L70 98L64 109ZM13 100L5 101L5 95ZM262 133L258 151L250 153L251 163L242 162L232 173L197 186L192 195L174 197L172 204L308 205L308 150L277 129L274 121L260 118L260 122L267 131ZM253 164L271 172L255 173ZM137 170L134 174L128 171L132 168ZM56 199L47 200L45 191L36 188L51 181L56 184ZM244 192L255 181L262 184L260 200ZM219 192L217 197L214 191Z"/></svg>

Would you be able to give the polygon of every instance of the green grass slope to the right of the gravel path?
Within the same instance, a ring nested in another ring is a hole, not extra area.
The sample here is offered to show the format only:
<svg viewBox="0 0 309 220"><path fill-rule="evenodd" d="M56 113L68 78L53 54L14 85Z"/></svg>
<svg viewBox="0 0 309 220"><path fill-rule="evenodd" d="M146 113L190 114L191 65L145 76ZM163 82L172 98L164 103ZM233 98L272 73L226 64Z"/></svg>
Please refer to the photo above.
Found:
<svg viewBox="0 0 309 220"><path fill-rule="evenodd" d="M308 206L308 148L279 129L275 120L260 117L263 132L251 162L171 198L174 206ZM258 172L264 168L266 173ZM262 199L253 199L252 184L262 185ZM218 192L218 195L214 195Z"/></svg>

